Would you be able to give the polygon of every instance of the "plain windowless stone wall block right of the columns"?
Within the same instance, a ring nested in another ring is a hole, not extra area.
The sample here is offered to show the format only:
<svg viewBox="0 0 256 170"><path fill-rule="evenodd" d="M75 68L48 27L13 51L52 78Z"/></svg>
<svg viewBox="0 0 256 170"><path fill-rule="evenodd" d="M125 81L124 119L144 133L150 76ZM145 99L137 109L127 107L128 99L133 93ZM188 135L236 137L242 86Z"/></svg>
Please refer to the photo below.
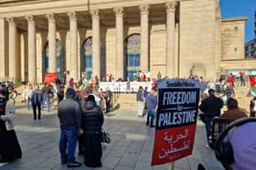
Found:
<svg viewBox="0 0 256 170"><path fill-rule="evenodd" d="M180 77L193 74L214 80L216 46L216 1L180 3Z"/></svg>

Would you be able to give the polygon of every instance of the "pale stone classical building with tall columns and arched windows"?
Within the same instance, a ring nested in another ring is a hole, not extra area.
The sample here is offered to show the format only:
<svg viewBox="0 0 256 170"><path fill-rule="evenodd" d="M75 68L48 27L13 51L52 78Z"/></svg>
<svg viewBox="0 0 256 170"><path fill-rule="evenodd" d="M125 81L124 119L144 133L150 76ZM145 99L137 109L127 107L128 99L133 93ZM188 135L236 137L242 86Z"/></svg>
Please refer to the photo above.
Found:
<svg viewBox="0 0 256 170"><path fill-rule="evenodd" d="M133 80L141 69L214 80L255 66L244 59L246 19L221 19L219 0L2 0L0 78Z"/></svg>

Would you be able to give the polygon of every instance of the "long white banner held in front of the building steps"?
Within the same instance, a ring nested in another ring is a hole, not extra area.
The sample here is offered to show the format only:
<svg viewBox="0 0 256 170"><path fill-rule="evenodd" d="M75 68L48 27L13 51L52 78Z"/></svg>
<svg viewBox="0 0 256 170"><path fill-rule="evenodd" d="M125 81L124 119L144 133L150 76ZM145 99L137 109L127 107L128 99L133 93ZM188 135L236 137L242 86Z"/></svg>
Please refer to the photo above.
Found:
<svg viewBox="0 0 256 170"><path fill-rule="evenodd" d="M148 90L152 88L152 82L144 82L144 81L133 81L130 82L130 90L127 88L127 82L100 82L100 89L103 91L106 88L110 88L113 92L136 92L139 90L139 87L142 86L143 88L147 87Z"/></svg>

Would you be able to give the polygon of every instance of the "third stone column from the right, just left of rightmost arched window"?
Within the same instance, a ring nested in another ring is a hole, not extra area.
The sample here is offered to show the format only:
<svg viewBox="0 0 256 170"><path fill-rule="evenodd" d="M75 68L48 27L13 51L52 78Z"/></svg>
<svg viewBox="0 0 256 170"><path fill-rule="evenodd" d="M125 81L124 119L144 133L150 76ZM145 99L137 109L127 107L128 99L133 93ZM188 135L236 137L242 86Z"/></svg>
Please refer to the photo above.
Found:
<svg viewBox="0 0 256 170"><path fill-rule="evenodd" d="M123 7L114 8L114 12L116 27L116 79L123 79Z"/></svg>

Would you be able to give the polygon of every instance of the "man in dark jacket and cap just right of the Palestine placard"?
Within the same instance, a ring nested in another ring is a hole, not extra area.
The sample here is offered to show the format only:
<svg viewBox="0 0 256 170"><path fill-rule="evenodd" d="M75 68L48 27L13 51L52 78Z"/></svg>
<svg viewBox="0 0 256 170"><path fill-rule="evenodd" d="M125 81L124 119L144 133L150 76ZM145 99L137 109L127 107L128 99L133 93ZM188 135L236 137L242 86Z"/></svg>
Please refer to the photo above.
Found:
<svg viewBox="0 0 256 170"><path fill-rule="evenodd" d="M215 116L220 115L220 109L223 107L223 101L216 97L214 94L215 90L209 89L208 90L208 98L203 100L199 106L201 112L205 114L205 124L206 124L206 131L207 131L207 139L208 144L210 144L211 138L211 122ZM207 147L209 147L207 145Z"/></svg>

